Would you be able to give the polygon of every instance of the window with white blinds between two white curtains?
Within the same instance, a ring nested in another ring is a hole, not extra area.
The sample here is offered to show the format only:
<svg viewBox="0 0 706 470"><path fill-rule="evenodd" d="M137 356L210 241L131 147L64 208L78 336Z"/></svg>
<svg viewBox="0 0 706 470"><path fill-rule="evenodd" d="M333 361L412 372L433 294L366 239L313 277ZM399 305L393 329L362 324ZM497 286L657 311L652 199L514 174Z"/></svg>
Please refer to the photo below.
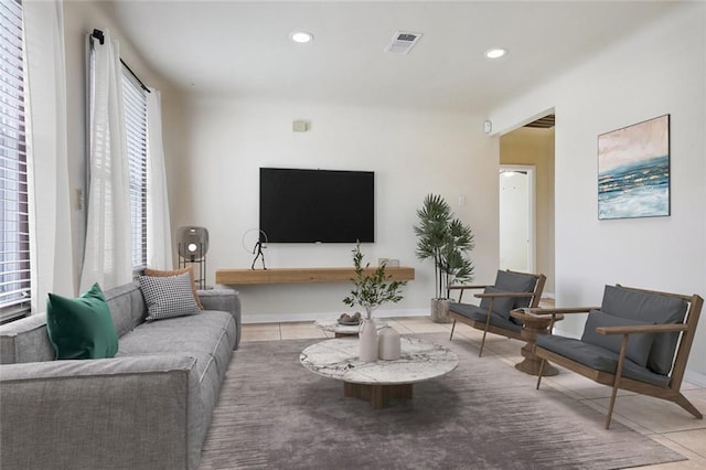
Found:
<svg viewBox="0 0 706 470"><path fill-rule="evenodd" d="M132 270L147 266L147 97L142 86L122 67L122 95L130 161Z"/></svg>

